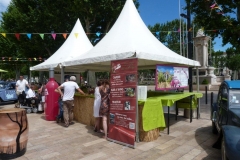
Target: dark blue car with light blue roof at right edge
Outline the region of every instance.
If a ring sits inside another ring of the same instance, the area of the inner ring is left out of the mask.
[[[211,105],[212,132],[219,133],[222,159],[240,159],[240,80],[224,81]]]

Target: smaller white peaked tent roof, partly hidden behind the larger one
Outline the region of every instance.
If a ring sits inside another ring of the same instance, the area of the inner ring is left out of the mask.
[[[92,48],[93,46],[78,19],[62,46],[46,61],[30,67],[30,70],[48,70],[49,68],[55,68],[63,61],[75,59],[77,56],[84,54]]]

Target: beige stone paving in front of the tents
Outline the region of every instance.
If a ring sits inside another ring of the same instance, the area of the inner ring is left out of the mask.
[[[216,96],[216,94],[215,94]],[[177,121],[171,115],[170,134],[167,129],[157,140],[140,142],[128,148],[101,138],[93,128],[75,123],[68,128],[54,121],[46,121],[41,114],[28,114],[29,141],[27,152],[17,160],[219,160],[220,150],[212,148],[217,135],[211,133],[210,94],[208,105],[201,99],[201,118],[183,118]],[[13,107],[13,104],[0,108]]]

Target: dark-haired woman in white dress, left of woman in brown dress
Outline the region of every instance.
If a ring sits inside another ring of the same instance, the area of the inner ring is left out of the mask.
[[[95,92],[94,92],[94,106],[93,106],[93,116],[95,117],[95,127],[94,127],[94,131],[98,132],[100,131],[99,125],[100,125],[100,117],[99,116],[99,109],[100,109],[100,105],[101,105],[101,94],[99,92],[99,87],[101,86],[101,81],[97,82],[97,87],[95,88]]]

